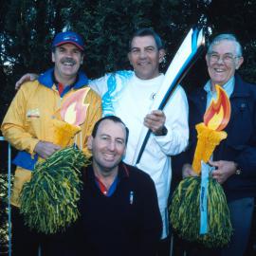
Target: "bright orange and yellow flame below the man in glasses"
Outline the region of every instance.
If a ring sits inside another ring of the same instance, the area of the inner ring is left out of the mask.
[[[222,131],[229,123],[230,102],[225,90],[216,84],[217,101],[211,101],[204,115],[204,123],[211,130]]]

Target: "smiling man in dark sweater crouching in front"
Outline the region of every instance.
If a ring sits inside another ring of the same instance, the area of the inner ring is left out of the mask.
[[[93,158],[83,172],[82,255],[156,255],[162,225],[155,184],[121,161],[127,139],[115,116],[100,119],[88,139]]]

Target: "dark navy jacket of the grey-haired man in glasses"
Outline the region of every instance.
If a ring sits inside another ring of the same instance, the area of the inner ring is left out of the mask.
[[[197,134],[195,125],[203,121],[207,93],[203,87],[188,95],[190,106],[190,143],[185,153],[173,159],[174,173],[181,173],[184,163],[192,163]],[[225,131],[228,137],[213,152],[213,160],[238,163],[240,175],[231,175],[223,184],[228,200],[256,195],[256,85],[235,75],[234,91],[230,96],[231,117]]]

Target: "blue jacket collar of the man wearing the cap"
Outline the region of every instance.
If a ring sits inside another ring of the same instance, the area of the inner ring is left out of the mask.
[[[56,82],[53,79],[54,78],[53,71],[54,71],[54,68],[48,69],[44,74],[39,76],[38,81],[41,84],[45,85],[46,87],[51,88],[54,84],[56,84]],[[83,73],[82,71],[79,71],[77,80],[75,83],[73,83],[72,88],[80,89],[87,84],[88,84],[88,79],[85,73]]]

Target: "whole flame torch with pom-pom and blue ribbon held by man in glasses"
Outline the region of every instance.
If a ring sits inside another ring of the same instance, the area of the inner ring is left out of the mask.
[[[232,233],[229,207],[221,185],[206,168],[204,175],[199,175],[202,160],[207,163],[215,147],[228,136],[223,129],[230,119],[229,98],[219,85],[215,88],[217,100],[210,102],[204,122],[195,126],[198,139],[192,169],[198,175],[188,176],[179,183],[170,207],[170,219],[177,234],[205,247],[228,245]]]

